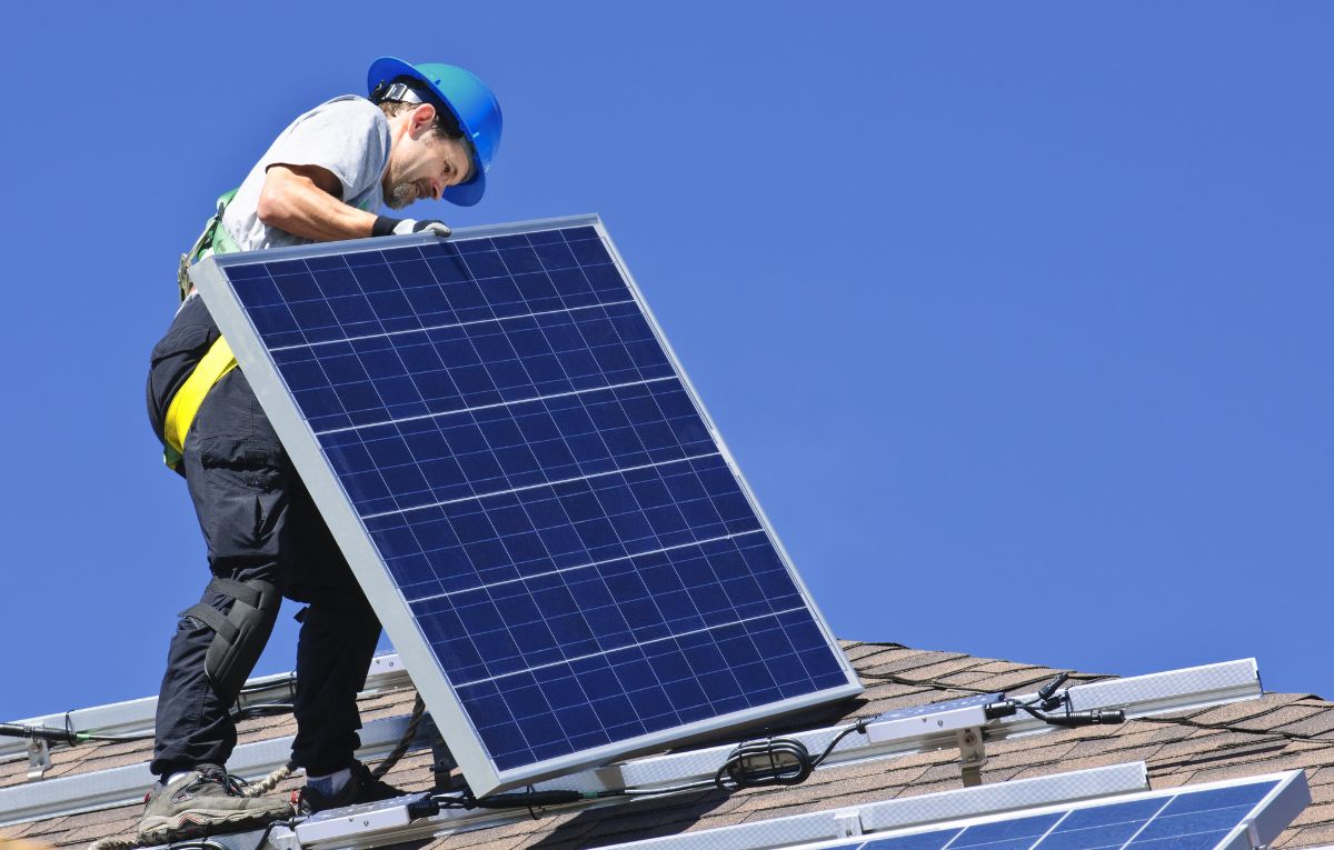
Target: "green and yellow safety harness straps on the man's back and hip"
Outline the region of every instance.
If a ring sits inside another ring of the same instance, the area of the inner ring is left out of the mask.
[[[217,212],[204,225],[204,232],[195,240],[189,253],[180,256],[180,268],[176,272],[176,284],[180,286],[180,300],[184,304],[189,297],[189,266],[209,254],[221,254],[239,250],[236,241],[227,228],[223,226],[223,213],[227,205],[236,197],[236,189],[225,192],[217,199]],[[221,336],[213,341],[204,357],[195,365],[195,369],[181,384],[180,389],[167,405],[167,416],[163,421],[163,462],[172,470],[180,466],[181,456],[185,450],[185,434],[199,413],[204,397],[213,385],[223,380],[223,376],[236,368],[236,357],[232,346]]]

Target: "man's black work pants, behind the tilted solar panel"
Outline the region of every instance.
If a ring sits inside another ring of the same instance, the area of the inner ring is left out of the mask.
[[[197,322],[203,305],[187,306],[155,350],[155,364],[171,361],[159,353],[173,348],[173,333],[176,345],[200,345],[195,329],[183,325]],[[151,405],[153,386],[151,376]],[[157,400],[159,409],[165,401]],[[185,481],[212,574],[267,581],[308,605],[296,651],[292,761],[315,775],[342,770],[360,745],[356,693],[366,683],[380,622],[240,369],[208,393],[184,449]],[[235,602],[211,589],[201,601],[224,614]],[[219,693],[204,669],[213,639],[213,630],[193,617],[183,617],[172,637],[157,698],[155,774],[224,765],[236,746],[229,709],[237,694]]]

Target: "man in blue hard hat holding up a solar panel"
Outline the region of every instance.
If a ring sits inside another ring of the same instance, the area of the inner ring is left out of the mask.
[[[420,199],[480,200],[500,141],[500,107],[454,65],[380,59],[370,100],[335,97],[297,117],[209,222],[193,257],[311,241],[430,230],[440,221],[380,216]],[[225,196],[224,196],[225,197]],[[140,838],[161,843],[267,823],[285,801],[247,798],[224,765],[236,745],[228,709],[272,632],[281,597],[297,616],[292,765],[311,811],[394,797],[354,751],[356,693],[380,624],[292,468],[203,301],[184,302],[152,353],[148,410],[167,460],[185,477],[213,578],[183,613],[157,701]]]

